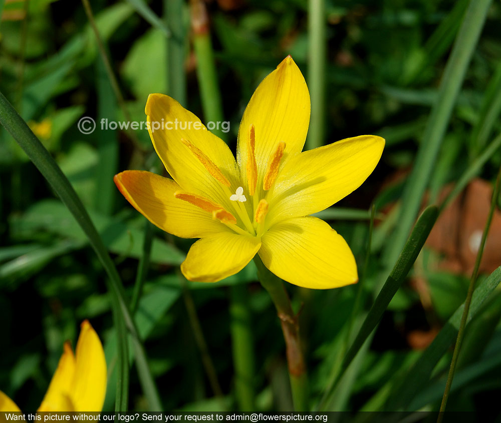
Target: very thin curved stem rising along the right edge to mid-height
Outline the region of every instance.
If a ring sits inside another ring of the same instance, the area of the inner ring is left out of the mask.
[[[454,371],[456,369],[457,357],[459,356],[459,351],[461,349],[461,343],[464,337],[464,329],[466,327],[466,320],[468,317],[468,311],[471,304],[471,298],[473,297],[473,291],[475,290],[476,278],[478,276],[478,269],[480,267],[480,261],[482,259],[483,248],[485,247],[485,241],[487,240],[487,234],[489,232],[490,223],[492,222],[492,216],[494,215],[494,209],[497,203],[497,197],[499,196],[499,188],[501,186],[501,168],[497,174],[496,184],[492,193],[492,200],[490,202],[489,214],[487,216],[487,222],[485,222],[485,227],[483,228],[482,240],[480,241],[480,247],[476,254],[475,266],[473,268],[473,273],[471,275],[470,283],[468,286],[468,293],[466,294],[466,300],[464,301],[463,313],[461,314],[461,322],[459,323],[459,329],[457,332],[456,344],[454,346],[454,352],[452,353],[452,360],[449,367],[449,374],[447,375],[447,382],[445,383],[445,390],[442,397],[442,403],[440,404],[440,412],[438,413],[437,423],[443,420],[443,411],[445,411],[445,406],[447,404],[447,399],[449,397],[450,387],[452,385],[452,379],[454,378]]]

